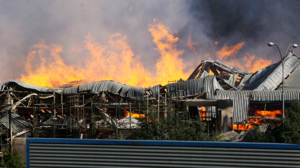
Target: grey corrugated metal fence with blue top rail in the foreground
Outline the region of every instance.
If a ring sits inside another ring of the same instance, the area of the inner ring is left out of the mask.
[[[27,167],[300,167],[300,145],[28,138]]]

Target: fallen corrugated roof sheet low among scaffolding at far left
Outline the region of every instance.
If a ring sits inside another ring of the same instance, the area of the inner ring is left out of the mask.
[[[9,114],[3,116],[0,121],[5,127],[9,128]],[[24,117],[12,113],[12,133],[16,134],[23,129],[31,128],[32,124]]]

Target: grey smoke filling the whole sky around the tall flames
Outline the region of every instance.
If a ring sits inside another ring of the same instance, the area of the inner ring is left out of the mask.
[[[274,63],[279,54],[267,42],[277,43],[282,52],[288,44],[299,43],[299,7],[299,1],[2,1],[0,82],[35,72],[30,68],[39,67],[41,60],[33,59],[31,52],[40,41],[60,46],[66,67],[84,67],[90,58],[86,37],[91,35],[95,43],[107,46],[115,33],[127,37],[126,44],[145,71],[156,73],[161,53],[148,30],[153,18],[178,37],[174,45],[182,51],[176,55],[185,67],[181,73],[188,73],[203,59],[218,59],[216,53],[224,46],[240,43],[243,46],[234,52],[234,59],[247,63],[249,58],[255,64],[262,58]],[[297,54],[298,48],[294,50]],[[26,68],[28,61],[30,68]],[[47,70],[49,64],[43,66]]]

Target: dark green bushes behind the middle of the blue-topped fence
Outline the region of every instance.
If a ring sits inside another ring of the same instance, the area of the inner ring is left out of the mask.
[[[175,116],[173,111],[168,111],[167,117],[158,117],[157,113],[151,111],[139,126],[136,133],[136,139],[139,140],[217,140],[216,136],[207,135],[200,118],[186,121]]]

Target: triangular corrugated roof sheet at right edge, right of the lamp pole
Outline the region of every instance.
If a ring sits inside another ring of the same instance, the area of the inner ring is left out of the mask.
[[[284,82],[284,89],[294,90],[300,89],[300,64],[292,71],[291,76]]]

